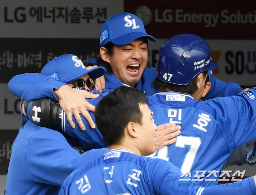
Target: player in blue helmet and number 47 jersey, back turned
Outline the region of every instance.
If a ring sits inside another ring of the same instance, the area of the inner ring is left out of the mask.
[[[202,38],[181,34],[168,39],[159,51],[153,82],[160,92],[148,103],[156,125],[169,121],[182,127],[175,144],[151,157],[172,162],[198,182],[216,183],[231,152],[256,138],[256,88],[197,101],[208,91],[208,70],[216,67]]]

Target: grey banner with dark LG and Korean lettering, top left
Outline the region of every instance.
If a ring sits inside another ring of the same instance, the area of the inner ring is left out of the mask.
[[[102,24],[120,12],[120,0],[1,0],[0,37],[99,38]]]

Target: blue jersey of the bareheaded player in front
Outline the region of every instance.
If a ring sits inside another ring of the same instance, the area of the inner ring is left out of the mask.
[[[203,188],[191,181],[179,181],[182,173],[172,163],[139,156],[129,150],[113,149],[74,171],[63,183],[59,195],[248,195],[255,194],[253,177],[241,187]],[[187,183],[182,187],[182,183]]]

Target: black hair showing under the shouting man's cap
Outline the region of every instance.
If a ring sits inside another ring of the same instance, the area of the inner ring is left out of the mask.
[[[141,37],[141,38],[138,38],[138,39],[142,39],[143,42],[147,43],[147,45],[148,45],[148,39],[146,37]],[[105,45],[103,45],[102,47],[105,47],[106,50],[107,50],[107,54],[109,56],[112,56],[113,53],[114,53],[114,46],[115,46],[114,43],[108,42]],[[106,62],[106,61],[102,60],[100,54],[98,54],[98,56],[97,56],[97,61],[99,63],[99,66],[103,66],[106,69],[107,72],[113,73],[113,70],[112,70],[111,65],[109,64],[109,62]]]

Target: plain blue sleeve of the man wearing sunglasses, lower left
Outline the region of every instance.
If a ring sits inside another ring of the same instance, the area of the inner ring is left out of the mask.
[[[95,149],[81,155],[59,132],[49,134],[47,131],[53,130],[42,130],[27,146],[27,169],[36,182],[61,186],[70,173],[108,151],[108,148]]]

